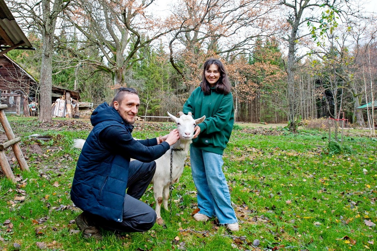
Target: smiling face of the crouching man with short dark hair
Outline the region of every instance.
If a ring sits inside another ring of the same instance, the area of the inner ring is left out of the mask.
[[[115,110],[119,112],[124,121],[130,124],[135,123],[135,115],[138,113],[139,106],[139,96],[133,93],[125,94],[120,104],[118,101],[114,101]]]

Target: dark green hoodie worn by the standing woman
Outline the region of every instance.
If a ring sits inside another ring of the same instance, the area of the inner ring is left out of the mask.
[[[183,106],[183,112],[192,112],[194,119],[205,115],[205,120],[198,124],[200,134],[193,139],[193,145],[202,150],[222,155],[229,141],[233,123],[233,96],[221,94],[212,87],[211,93],[205,94],[201,87],[196,88]]]

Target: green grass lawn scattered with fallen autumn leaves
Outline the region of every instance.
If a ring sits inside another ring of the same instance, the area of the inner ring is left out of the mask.
[[[376,250],[377,228],[364,222],[377,223],[377,141],[368,137],[344,136],[342,147],[352,152],[336,153],[327,150],[323,131],[292,134],[278,128],[271,132],[279,133],[254,135],[242,125],[224,152],[239,232],[228,236],[213,220],[193,220],[196,189],[187,160],[172,191],[172,215],[161,210],[166,226],[156,224],[145,233],[103,231],[103,240],[97,241],[84,239],[72,222],[81,211],[69,197],[80,155],[72,140],[86,137],[89,122],[57,119],[46,126],[35,118],[9,121],[22,138],[31,172],[11,162],[17,184],[0,177],[0,250]],[[173,123],[136,124],[133,135],[152,138],[172,128]],[[53,138],[36,152],[28,137],[34,133]],[[154,207],[151,187],[142,200]],[[251,246],[255,239],[261,242],[257,248]]]

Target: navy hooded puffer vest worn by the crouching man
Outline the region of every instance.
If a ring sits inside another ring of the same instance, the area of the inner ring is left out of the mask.
[[[104,151],[99,135],[103,129],[114,125],[131,134],[133,126],[124,123],[107,103],[98,106],[90,120],[94,127],[77,162],[71,199],[83,211],[122,222],[130,158]]]

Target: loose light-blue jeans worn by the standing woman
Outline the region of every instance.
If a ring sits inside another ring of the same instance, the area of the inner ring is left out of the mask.
[[[229,188],[222,172],[222,155],[191,145],[192,178],[198,190],[199,213],[216,216],[220,224],[238,222],[230,202]]]

